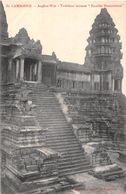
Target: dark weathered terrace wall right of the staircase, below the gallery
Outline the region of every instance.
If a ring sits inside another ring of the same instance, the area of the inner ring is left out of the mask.
[[[69,92],[64,94],[64,101],[67,104],[72,123],[74,125],[81,124],[79,130],[82,131],[82,134],[85,131],[89,139],[91,136],[97,136],[104,140],[114,141],[118,129],[123,132],[122,106],[117,94]],[[88,130],[87,127],[84,127],[86,124],[91,125]]]

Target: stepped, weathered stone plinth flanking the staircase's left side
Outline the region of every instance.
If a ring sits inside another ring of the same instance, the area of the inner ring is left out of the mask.
[[[3,86],[3,172],[8,169],[15,176],[16,171],[21,181],[58,176],[57,155],[47,157],[38,150],[46,147],[45,129],[39,125],[30,93],[29,84]]]

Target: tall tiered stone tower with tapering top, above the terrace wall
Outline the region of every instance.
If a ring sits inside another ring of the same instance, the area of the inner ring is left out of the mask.
[[[85,65],[92,71],[92,90],[121,92],[120,36],[106,8],[96,17],[87,41]]]

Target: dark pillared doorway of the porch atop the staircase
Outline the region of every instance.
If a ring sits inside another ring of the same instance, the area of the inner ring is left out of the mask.
[[[38,80],[38,60],[26,58],[24,60],[24,80],[37,81]]]

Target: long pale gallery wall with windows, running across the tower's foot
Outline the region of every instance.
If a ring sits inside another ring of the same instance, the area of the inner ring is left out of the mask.
[[[58,70],[56,72],[56,87],[61,89],[82,90],[85,92],[121,92],[122,79],[112,78],[111,71],[71,72]]]

